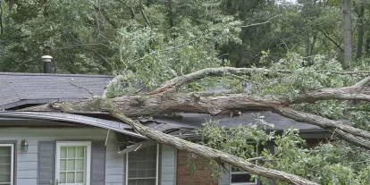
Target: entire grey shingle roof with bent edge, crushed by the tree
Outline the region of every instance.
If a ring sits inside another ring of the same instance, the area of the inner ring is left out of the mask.
[[[0,110],[20,105],[46,104],[55,101],[78,101],[93,96],[101,96],[106,85],[113,79],[114,76],[110,75],[0,72]],[[1,116],[5,116],[5,113],[0,114]],[[61,113],[13,113],[13,116],[25,116],[28,119],[32,119],[32,117],[46,120],[54,119],[59,122],[75,122],[105,128],[107,125],[104,119],[93,118],[94,116],[90,115],[80,117],[76,114]],[[302,131],[323,130],[315,125],[296,122],[269,111],[248,111],[236,116],[225,114],[217,116],[179,114],[178,116],[170,117],[157,115],[153,119],[140,121],[156,130],[170,133],[178,130],[194,130],[201,127],[202,123],[209,121],[220,122],[221,126],[230,128],[240,124],[255,123],[257,116],[264,117],[265,122],[274,125],[274,128],[266,127],[266,130],[286,130],[290,127]],[[122,124],[118,122],[114,122],[112,125],[118,125],[117,129],[119,130],[123,129],[121,128]]]

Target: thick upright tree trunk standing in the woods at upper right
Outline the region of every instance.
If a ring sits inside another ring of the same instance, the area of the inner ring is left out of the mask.
[[[352,63],[352,22],[350,3],[350,0],[343,0],[344,68],[348,68],[350,63]]]

